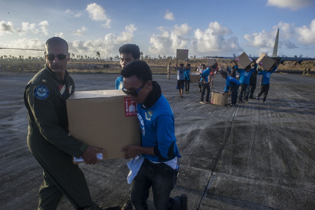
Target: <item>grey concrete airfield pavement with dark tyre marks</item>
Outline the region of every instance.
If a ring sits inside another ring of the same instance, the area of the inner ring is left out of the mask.
[[[0,208],[37,209],[42,169],[26,144],[23,91],[35,73],[0,72]],[[114,89],[117,74],[72,74],[76,91]],[[176,75],[153,75],[175,116],[180,175],[172,196],[188,209],[315,209],[315,77],[273,73],[268,104],[200,104],[197,83],[178,97]],[[259,91],[259,81],[255,94]],[[211,91],[222,92],[220,75]],[[230,102],[230,98],[228,99]],[[95,203],[128,198],[123,158],[80,164]],[[154,209],[152,193],[149,209]],[[58,209],[73,209],[65,198]]]

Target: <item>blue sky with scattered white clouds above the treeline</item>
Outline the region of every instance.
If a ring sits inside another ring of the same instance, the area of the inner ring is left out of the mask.
[[[0,0],[0,47],[44,49],[59,36],[74,55],[119,55],[126,43],[144,55],[272,54],[315,57],[315,0]],[[42,55],[4,50],[0,55]]]

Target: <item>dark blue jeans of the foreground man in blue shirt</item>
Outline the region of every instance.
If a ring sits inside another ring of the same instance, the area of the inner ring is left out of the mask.
[[[149,197],[150,187],[152,187],[153,202],[157,210],[181,209],[183,199],[169,197],[174,188],[174,178],[171,172],[145,158],[130,186],[133,209],[148,210],[146,199]]]

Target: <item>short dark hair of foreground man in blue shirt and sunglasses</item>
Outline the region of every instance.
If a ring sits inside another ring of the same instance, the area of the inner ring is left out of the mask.
[[[142,82],[152,81],[152,72],[146,61],[133,60],[128,63],[120,73],[123,77],[136,76]]]

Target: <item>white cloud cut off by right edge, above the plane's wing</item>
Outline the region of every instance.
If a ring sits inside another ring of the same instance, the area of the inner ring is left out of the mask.
[[[307,26],[297,27],[294,31],[299,35],[298,41],[302,44],[315,44],[315,19],[309,28]]]

